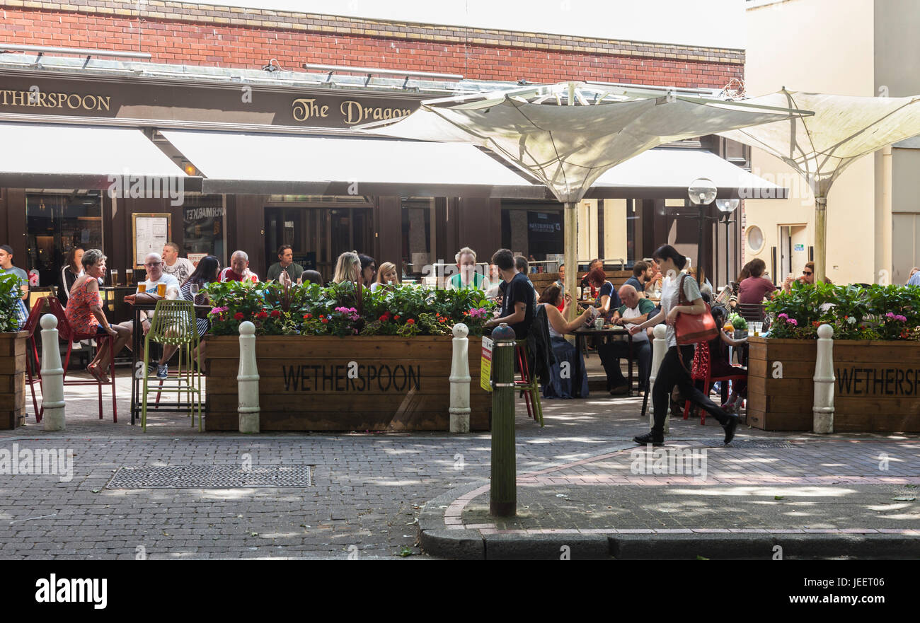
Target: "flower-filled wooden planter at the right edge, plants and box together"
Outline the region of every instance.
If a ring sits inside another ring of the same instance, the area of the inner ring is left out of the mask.
[[[750,340],[748,424],[811,430],[817,329],[834,327],[834,430],[920,431],[920,288],[795,285]]]

